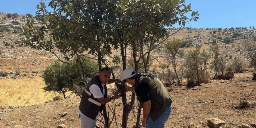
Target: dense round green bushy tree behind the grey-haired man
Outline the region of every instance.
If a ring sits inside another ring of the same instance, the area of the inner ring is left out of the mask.
[[[79,60],[68,61],[68,64],[57,61],[48,66],[42,75],[46,84],[43,89],[62,93],[64,98],[66,98],[65,93],[68,91],[81,97],[83,82],[89,81],[89,79],[87,79],[88,81],[81,79],[82,74],[90,78],[98,71],[97,64],[88,58],[82,58],[81,63],[85,72],[82,72]]]

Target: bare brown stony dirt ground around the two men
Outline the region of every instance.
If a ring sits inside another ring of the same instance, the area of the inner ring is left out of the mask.
[[[209,118],[223,120],[226,123],[222,126],[223,128],[234,128],[243,124],[255,123],[255,93],[248,99],[249,103],[252,104],[251,108],[246,110],[234,109],[234,106],[240,102],[240,98],[244,94],[250,93],[256,86],[255,81],[247,78],[250,75],[250,73],[238,73],[230,80],[211,80],[211,83],[203,84],[197,90],[174,87],[174,91],[170,91],[173,97],[173,109],[165,127],[185,128],[191,122],[194,125],[208,127],[207,119]],[[128,93],[128,101],[130,100],[129,97]],[[79,102],[80,97],[72,97],[15,109],[5,107],[0,109],[0,111],[6,111],[0,115],[0,127],[12,128],[14,125],[22,125],[33,128],[54,128],[60,124],[65,124],[70,128],[79,128],[81,123],[77,113]],[[122,122],[121,103],[121,98],[116,100],[115,103],[108,103],[110,106],[120,105],[116,106],[118,127],[121,127]],[[67,112],[67,115],[61,118],[60,114],[63,112]],[[136,115],[136,113],[134,114]],[[53,117],[56,117],[56,119],[53,119]],[[60,119],[65,119],[65,121],[56,123]],[[136,118],[133,118],[133,113],[131,113],[128,127],[132,127],[135,124],[135,120]],[[11,125],[12,121],[16,123]],[[97,124],[102,126],[100,122],[97,122]],[[114,122],[111,124],[111,127],[116,127]]]

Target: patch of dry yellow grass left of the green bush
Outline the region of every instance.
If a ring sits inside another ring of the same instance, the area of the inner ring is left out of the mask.
[[[23,106],[40,104],[52,99],[54,93],[42,90],[45,83],[42,78],[1,79],[0,106]]]

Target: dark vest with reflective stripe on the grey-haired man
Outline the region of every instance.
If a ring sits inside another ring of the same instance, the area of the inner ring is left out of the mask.
[[[99,86],[101,93],[103,94],[103,87],[99,80],[99,76],[95,76],[92,80],[87,84],[87,86],[83,90],[81,102],[79,105],[79,110],[83,115],[91,118],[93,120],[96,119],[99,112],[102,112],[106,104],[101,104],[97,98],[93,97],[93,94],[90,92],[89,87],[93,84]],[[104,98],[108,97],[106,84],[104,85],[105,95]]]

